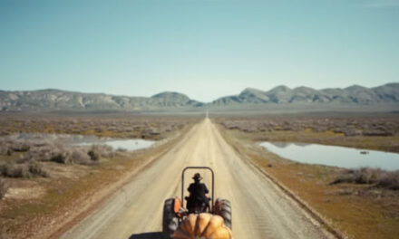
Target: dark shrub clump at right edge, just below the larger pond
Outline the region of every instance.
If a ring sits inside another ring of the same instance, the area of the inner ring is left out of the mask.
[[[349,169],[345,170],[343,174],[336,177],[336,180],[332,182],[332,184],[339,183],[372,184],[388,189],[399,190],[399,170],[386,171],[372,167]]]

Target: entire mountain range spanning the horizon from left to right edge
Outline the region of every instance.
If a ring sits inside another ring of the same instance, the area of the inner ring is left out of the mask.
[[[353,85],[345,89],[315,90],[309,87],[290,89],[277,86],[270,91],[248,88],[238,95],[225,96],[209,103],[191,100],[187,95],[165,91],[151,97],[131,97],[104,93],[82,93],[61,90],[0,91],[0,111],[56,110],[195,110],[248,106],[381,105],[399,106],[399,83],[375,88]]]

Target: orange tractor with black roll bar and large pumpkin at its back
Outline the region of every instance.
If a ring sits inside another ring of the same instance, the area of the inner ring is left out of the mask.
[[[189,169],[206,169],[212,176],[209,205],[195,204],[187,208],[189,196],[184,197],[184,175]],[[162,233],[166,239],[232,239],[231,204],[226,199],[216,199],[215,174],[210,167],[185,167],[181,173],[181,197],[165,200]],[[187,201],[186,207],[183,199]]]

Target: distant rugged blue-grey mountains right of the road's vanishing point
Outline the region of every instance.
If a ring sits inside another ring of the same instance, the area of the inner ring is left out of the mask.
[[[238,95],[212,101],[214,106],[242,104],[296,104],[296,103],[375,104],[399,103],[399,83],[389,83],[375,88],[353,85],[345,89],[315,90],[309,87],[290,89],[280,85],[270,91],[245,89]]]

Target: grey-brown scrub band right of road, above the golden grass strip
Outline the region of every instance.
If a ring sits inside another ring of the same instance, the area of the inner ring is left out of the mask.
[[[217,118],[216,121],[226,129],[238,129],[244,132],[271,131],[313,131],[334,132],[346,137],[354,136],[394,136],[399,132],[397,117],[235,117]]]

